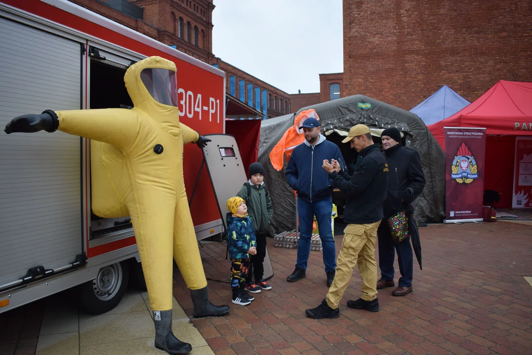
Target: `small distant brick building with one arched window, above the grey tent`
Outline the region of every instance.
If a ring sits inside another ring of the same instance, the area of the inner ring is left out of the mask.
[[[320,74],[320,92],[291,94],[293,112],[315,103],[344,97],[344,73]]]

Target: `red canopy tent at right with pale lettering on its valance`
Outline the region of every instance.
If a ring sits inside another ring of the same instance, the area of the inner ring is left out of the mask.
[[[511,207],[516,136],[532,136],[532,83],[500,80],[453,116],[427,127],[444,150],[443,127],[486,128],[484,189],[501,195],[498,207]]]

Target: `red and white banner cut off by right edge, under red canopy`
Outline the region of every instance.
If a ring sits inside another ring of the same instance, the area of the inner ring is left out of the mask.
[[[532,209],[532,137],[516,137],[513,209]]]

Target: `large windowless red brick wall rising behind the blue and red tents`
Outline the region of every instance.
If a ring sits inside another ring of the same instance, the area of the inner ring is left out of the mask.
[[[531,82],[531,19],[527,0],[343,0],[343,96],[410,110],[444,84],[473,101]]]

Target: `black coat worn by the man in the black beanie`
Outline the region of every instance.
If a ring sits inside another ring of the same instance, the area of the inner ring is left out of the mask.
[[[388,168],[388,194],[383,204],[384,219],[404,211],[425,188],[425,174],[417,151],[394,145],[384,151]]]

